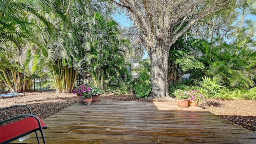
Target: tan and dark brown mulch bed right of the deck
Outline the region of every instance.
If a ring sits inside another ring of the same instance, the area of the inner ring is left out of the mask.
[[[256,100],[214,100],[199,102],[209,112],[256,132]],[[215,105],[215,106],[214,106]]]

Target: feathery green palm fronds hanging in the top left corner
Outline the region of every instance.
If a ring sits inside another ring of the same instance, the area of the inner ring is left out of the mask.
[[[65,4],[65,1],[62,1]],[[65,6],[65,5],[64,5]],[[63,5],[58,0],[1,0],[0,1],[0,44],[8,41],[22,42],[24,39],[33,38],[32,27],[35,26],[30,16],[36,16],[52,32],[53,25],[42,15],[55,12],[63,20]]]

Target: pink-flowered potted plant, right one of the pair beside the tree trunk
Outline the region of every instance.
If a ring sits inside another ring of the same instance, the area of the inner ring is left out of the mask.
[[[198,90],[188,91],[188,106],[198,106],[198,102],[202,100],[203,96]]]

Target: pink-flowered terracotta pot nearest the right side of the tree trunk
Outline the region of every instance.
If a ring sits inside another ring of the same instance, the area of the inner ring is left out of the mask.
[[[186,90],[177,89],[173,94],[178,100],[178,107],[188,108],[188,92]]]

